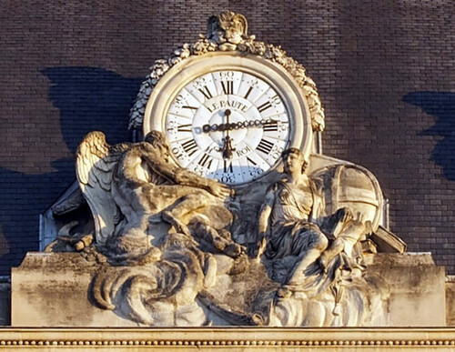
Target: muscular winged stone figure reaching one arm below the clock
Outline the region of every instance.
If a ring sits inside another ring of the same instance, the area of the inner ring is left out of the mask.
[[[223,204],[226,186],[174,166],[169,156],[159,131],[147,134],[144,142],[116,146],[109,146],[99,131],[84,138],[76,153],[76,174],[95,219],[98,245],[112,236],[145,233],[150,217],[160,215],[186,233],[182,216]]]

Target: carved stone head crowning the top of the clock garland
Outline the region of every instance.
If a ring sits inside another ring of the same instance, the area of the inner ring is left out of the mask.
[[[236,46],[248,37],[247,17],[232,11],[212,15],[207,20],[207,39],[226,49],[235,50]]]

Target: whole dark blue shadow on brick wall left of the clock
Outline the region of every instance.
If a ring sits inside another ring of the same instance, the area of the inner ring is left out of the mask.
[[[50,67],[41,73],[50,79],[49,101],[59,109],[62,136],[73,154],[89,131],[105,132],[110,144],[130,139],[128,113],[142,79],[94,67]],[[52,166],[56,172],[42,174],[0,167],[0,275],[38,249],[39,214],[76,178],[73,157],[53,160]]]

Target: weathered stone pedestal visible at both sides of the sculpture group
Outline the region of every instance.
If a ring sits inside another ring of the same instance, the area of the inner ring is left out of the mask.
[[[445,271],[430,254],[379,254],[367,262],[389,283],[385,326],[445,326]],[[90,301],[91,278],[99,269],[76,253],[28,253],[12,270],[12,326],[137,327]]]

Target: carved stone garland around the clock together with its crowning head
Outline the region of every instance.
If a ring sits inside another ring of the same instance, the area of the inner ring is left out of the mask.
[[[187,60],[190,56],[207,55],[213,52],[237,52],[242,55],[257,55],[284,67],[298,83],[308,101],[313,130],[322,132],[325,126],[324,109],[321,106],[316,84],[307,75],[305,67],[286,55],[281,46],[258,41],[255,35],[248,35],[247,32],[248,23],[244,15],[226,11],[209,17],[206,35],[199,35],[200,38],[196,42],[178,47],[167,58],[155,61],[155,64],[150,67],[150,74],[142,82],[135,104],[131,108],[129,128],[142,128],[147,100],[161,77],[172,66]]]

